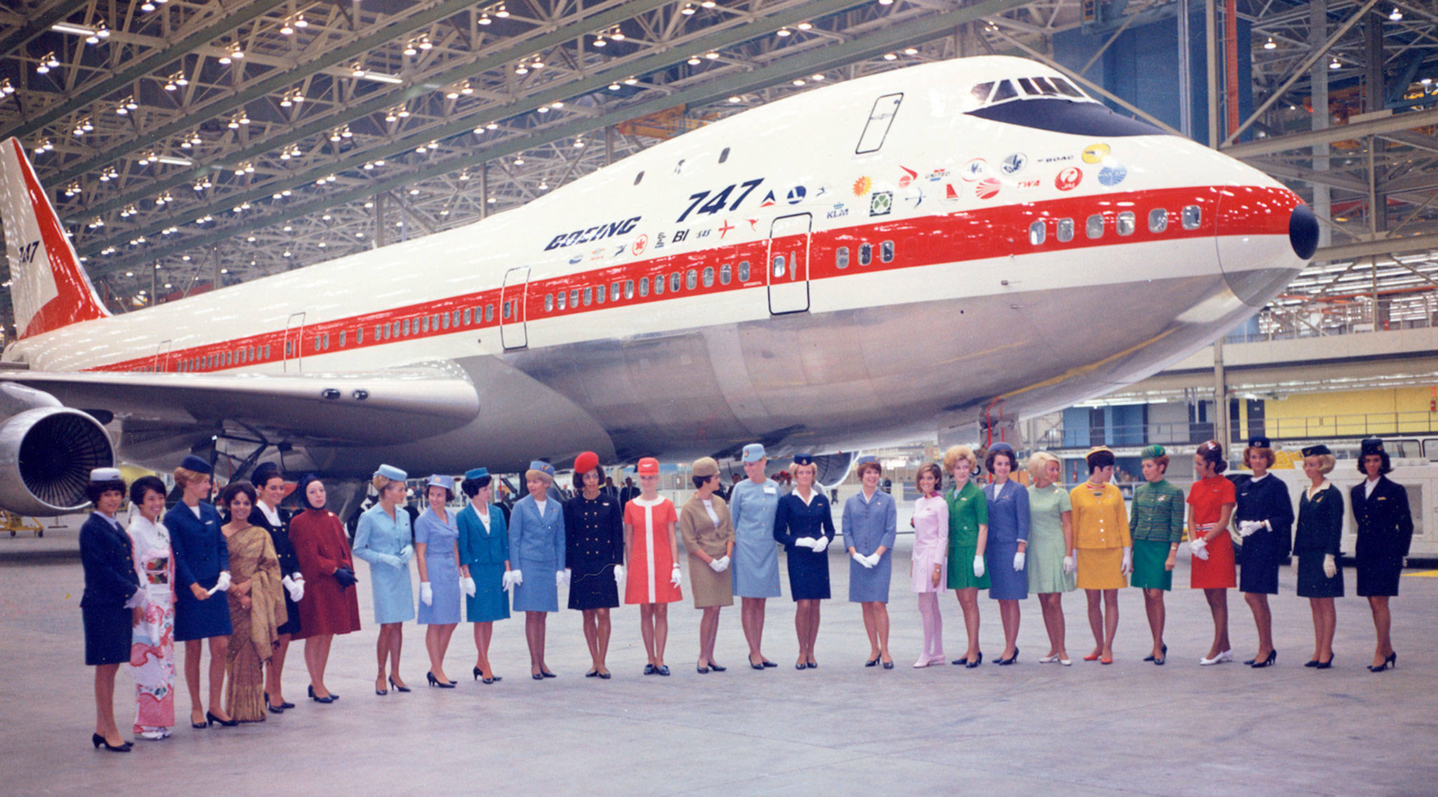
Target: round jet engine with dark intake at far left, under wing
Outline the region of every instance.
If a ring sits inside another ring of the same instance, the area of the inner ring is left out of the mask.
[[[115,447],[93,417],[68,407],[35,407],[0,424],[0,508],[23,515],[83,509],[95,468],[115,465]]]

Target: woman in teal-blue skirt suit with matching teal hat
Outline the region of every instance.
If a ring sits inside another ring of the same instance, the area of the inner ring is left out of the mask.
[[[489,640],[495,634],[495,620],[509,619],[509,594],[505,573],[509,570],[509,532],[505,514],[490,505],[492,476],[486,468],[464,472],[459,489],[469,496],[469,506],[459,511],[460,573],[469,577],[473,591],[466,590],[466,617],[475,624],[475,679],[485,683],[503,680],[489,666]]]

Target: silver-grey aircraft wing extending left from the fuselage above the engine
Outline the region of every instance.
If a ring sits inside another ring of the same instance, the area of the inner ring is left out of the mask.
[[[473,383],[450,363],[336,374],[0,371],[0,380],[127,423],[234,422],[315,442],[411,442],[479,414]]]

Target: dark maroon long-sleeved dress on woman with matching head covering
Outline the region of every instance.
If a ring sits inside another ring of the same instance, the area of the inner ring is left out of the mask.
[[[335,568],[355,567],[339,518],[325,509],[305,509],[289,522],[289,541],[305,575],[305,597],[296,604],[299,633],[293,639],[358,632],[357,590],[352,586],[342,590],[335,581]]]

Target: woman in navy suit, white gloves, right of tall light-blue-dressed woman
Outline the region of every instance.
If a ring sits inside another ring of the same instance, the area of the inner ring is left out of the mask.
[[[794,596],[794,633],[800,657],[794,669],[817,669],[814,642],[818,639],[818,607],[828,600],[828,544],[834,541],[834,518],[828,498],[814,489],[818,466],[807,453],[794,455],[794,492],[779,498],[774,512],[774,539],[784,545],[789,561],[789,594]]]

